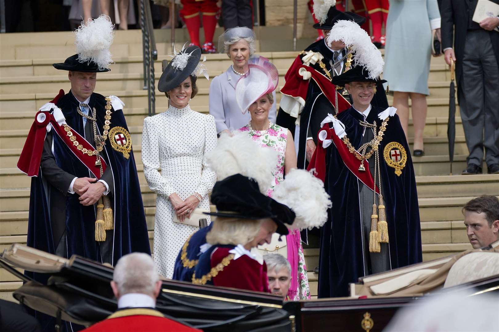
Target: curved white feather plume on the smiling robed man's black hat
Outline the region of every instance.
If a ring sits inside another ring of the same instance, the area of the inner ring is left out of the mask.
[[[328,32],[326,43],[341,40],[353,52],[355,66],[362,66],[369,72],[369,78],[377,79],[383,72],[385,62],[380,50],[371,42],[371,37],[357,23],[339,20]]]

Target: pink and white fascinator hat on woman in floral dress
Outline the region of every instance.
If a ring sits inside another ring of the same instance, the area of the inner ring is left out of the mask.
[[[267,93],[271,93],[279,82],[277,68],[262,56],[253,56],[248,61],[248,73],[236,85],[236,103],[245,114],[251,104]]]

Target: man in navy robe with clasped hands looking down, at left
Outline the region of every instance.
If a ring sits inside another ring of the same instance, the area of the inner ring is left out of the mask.
[[[123,104],[115,96],[105,98],[93,92],[97,72],[109,69],[99,69],[93,62],[80,63],[77,54],[54,67],[69,71],[71,90],[67,94],[61,90],[37,113],[17,164],[32,177],[27,245],[66,258],[76,254],[111,265],[130,252],[150,254]],[[80,115],[78,109],[88,117]],[[106,117],[108,110],[110,119]],[[91,119],[94,112],[95,128]],[[109,133],[104,132],[106,124]],[[95,166],[95,154],[84,153],[96,148],[95,134],[105,140],[100,152],[105,166],[102,175]],[[112,226],[104,230],[105,240],[98,241],[97,203],[103,195],[110,201],[112,217],[108,220]],[[25,274],[47,282],[46,274]],[[44,331],[53,331],[52,318],[39,313],[36,317]]]

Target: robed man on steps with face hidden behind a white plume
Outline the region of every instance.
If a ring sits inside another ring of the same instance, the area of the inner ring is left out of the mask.
[[[339,11],[335,1],[317,0],[313,8],[319,20],[313,26],[316,29],[328,31],[338,20],[354,21],[357,24],[363,24],[366,20],[356,13]],[[286,73],[276,123],[288,128],[293,134],[298,168],[306,168],[310,161],[317,143],[320,121],[327,113],[334,112],[335,87],[330,81],[346,70],[346,60],[345,44],[341,40],[326,42],[324,38],[301,51]],[[312,79],[299,75],[302,65],[310,67]],[[316,79],[316,76],[322,80]],[[342,92],[343,89],[339,91],[340,94]],[[348,96],[345,97],[348,99]],[[345,100],[344,105],[349,106],[349,102]],[[342,108],[342,101],[339,108]]]

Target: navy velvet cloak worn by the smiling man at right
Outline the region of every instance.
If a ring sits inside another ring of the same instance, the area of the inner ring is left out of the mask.
[[[373,107],[367,117],[369,123],[376,120],[378,132],[382,122],[378,113],[381,111],[383,109]],[[359,120],[363,120],[363,116],[350,108],[338,114],[337,118],[345,125],[351,144],[358,149],[364,130]],[[407,162],[400,176],[383,157],[383,150],[390,142],[402,144],[407,152]],[[416,180],[409,146],[397,114],[390,116],[379,145],[379,157],[391,269],[419,263],[422,261],[422,248]],[[328,221],[321,228],[319,298],[348,296],[348,284],[357,282],[366,274],[364,256],[369,255],[368,252],[364,255],[366,248],[362,245],[359,185],[362,183],[345,166],[335,145],[329,145],[324,186],[331,196],[332,208],[328,211]]]

